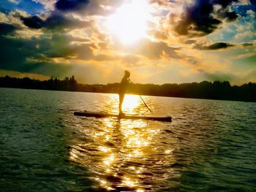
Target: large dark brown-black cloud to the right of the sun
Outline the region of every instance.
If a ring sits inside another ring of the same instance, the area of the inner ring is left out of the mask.
[[[180,35],[188,35],[190,37],[211,34],[222,23],[220,19],[233,21],[237,18],[235,12],[229,12],[227,9],[227,6],[234,1],[237,0],[197,0],[195,4],[185,9],[174,30]],[[221,5],[222,11],[214,12],[215,4]],[[214,16],[214,13],[216,16]]]

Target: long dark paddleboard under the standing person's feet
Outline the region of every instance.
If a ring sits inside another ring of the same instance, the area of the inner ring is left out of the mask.
[[[118,115],[115,113],[108,113],[108,112],[90,112],[90,111],[83,111],[83,112],[74,112],[76,116],[83,116],[83,117],[94,117],[94,118],[120,118],[120,119],[145,119],[145,120],[159,120],[159,121],[171,121],[172,118],[170,116],[142,116],[142,115]]]

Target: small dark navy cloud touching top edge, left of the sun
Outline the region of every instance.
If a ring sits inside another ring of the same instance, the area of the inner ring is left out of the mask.
[[[78,11],[84,9],[89,4],[89,0],[59,0],[55,7],[64,12]]]

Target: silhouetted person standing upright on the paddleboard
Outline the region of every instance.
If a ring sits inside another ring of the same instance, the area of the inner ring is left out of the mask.
[[[124,71],[124,77],[121,79],[121,82],[120,82],[120,85],[119,85],[119,115],[124,115],[124,112],[121,110],[121,107],[122,107],[122,104],[123,104],[123,101],[124,101],[124,94],[125,92],[127,91],[127,87],[129,85],[129,76],[130,76],[130,73],[125,70]]]

